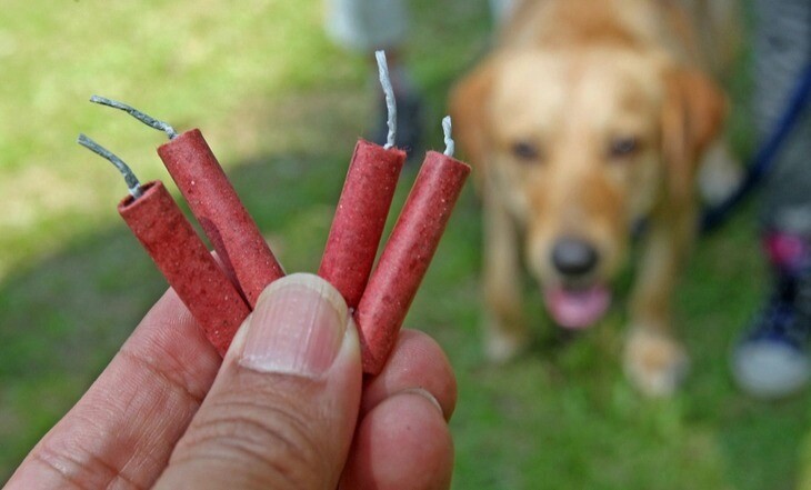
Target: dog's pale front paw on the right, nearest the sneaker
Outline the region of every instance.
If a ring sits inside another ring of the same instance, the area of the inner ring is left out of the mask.
[[[688,371],[688,356],[679,342],[643,329],[631,330],[624,358],[625,374],[649,397],[673,394]]]

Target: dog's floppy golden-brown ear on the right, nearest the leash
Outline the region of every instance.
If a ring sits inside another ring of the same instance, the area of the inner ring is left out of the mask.
[[[694,69],[665,74],[662,150],[673,197],[692,194],[695,170],[707,147],[718,138],[727,116],[721,89]]]

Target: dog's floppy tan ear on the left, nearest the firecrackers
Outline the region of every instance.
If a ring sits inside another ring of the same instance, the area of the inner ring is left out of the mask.
[[[495,61],[489,59],[460,80],[450,96],[454,138],[468,160],[480,169],[487,161],[490,146],[488,101],[494,77]]]

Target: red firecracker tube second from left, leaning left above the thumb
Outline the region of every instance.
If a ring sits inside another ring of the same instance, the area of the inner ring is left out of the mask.
[[[284,276],[253,219],[237,196],[199,129],[158,148],[180,192],[236,279],[248,303],[256,306],[266,286]]]

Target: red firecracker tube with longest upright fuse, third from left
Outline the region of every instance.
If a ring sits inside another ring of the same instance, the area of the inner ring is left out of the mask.
[[[374,264],[406,152],[359,140],[318,274],[357,308]]]

